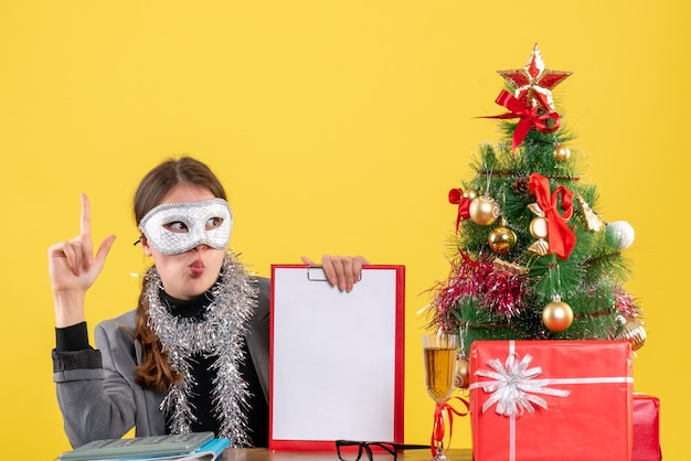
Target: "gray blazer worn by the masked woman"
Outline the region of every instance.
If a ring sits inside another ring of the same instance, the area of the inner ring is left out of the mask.
[[[269,280],[257,278],[258,305],[249,320],[247,346],[264,397],[269,389]],[[160,410],[163,394],[135,383],[141,344],[135,340],[136,311],[99,323],[97,350],[53,351],[53,380],[65,433],[73,447],[123,437],[136,427],[138,437],[166,433]]]

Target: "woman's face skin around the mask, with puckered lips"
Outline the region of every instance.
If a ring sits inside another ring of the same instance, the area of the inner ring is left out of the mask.
[[[162,203],[191,203],[214,199],[206,187],[190,183],[179,183],[163,197]],[[161,276],[166,292],[177,299],[192,299],[202,294],[219,279],[224,249],[199,245],[179,255],[168,256],[142,238],[141,246]]]

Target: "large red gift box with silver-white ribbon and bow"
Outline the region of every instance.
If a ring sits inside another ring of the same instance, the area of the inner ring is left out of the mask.
[[[475,461],[629,461],[631,347],[625,341],[476,341]]]

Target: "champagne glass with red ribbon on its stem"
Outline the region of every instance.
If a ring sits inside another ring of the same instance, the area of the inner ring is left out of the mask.
[[[423,335],[423,347],[425,352],[425,385],[427,394],[437,405],[433,429],[433,440],[436,443],[433,450],[435,452],[433,461],[448,460],[444,454],[444,420],[439,419],[444,418],[444,404],[454,394],[458,336],[456,334],[425,334]]]

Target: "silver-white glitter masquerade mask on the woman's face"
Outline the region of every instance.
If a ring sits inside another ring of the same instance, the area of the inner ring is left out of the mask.
[[[232,227],[233,212],[223,199],[162,203],[139,222],[139,228],[151,246],[168,256],[189,251],[199,245],[225,249]]]

